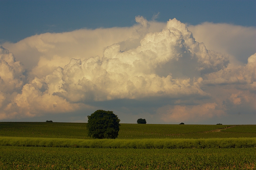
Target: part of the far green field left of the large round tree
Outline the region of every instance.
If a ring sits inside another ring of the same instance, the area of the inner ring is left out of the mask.
[[[90,139],[86,123],[0,122],[0,136]]]

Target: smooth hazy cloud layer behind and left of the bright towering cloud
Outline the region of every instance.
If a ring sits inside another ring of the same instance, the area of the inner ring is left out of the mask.
[[[45,33],[27,37],[18,43],[3,43],[33,74],[41,77],[51,73],[58,66],[64,67],[71,58],[102,56],[103,51],[114,43],[121,44],[121,50],[136,48],[146,33],[161,31],[163,23],[148,22],[136,17],[133,27],[79,29],[63,33]]]

